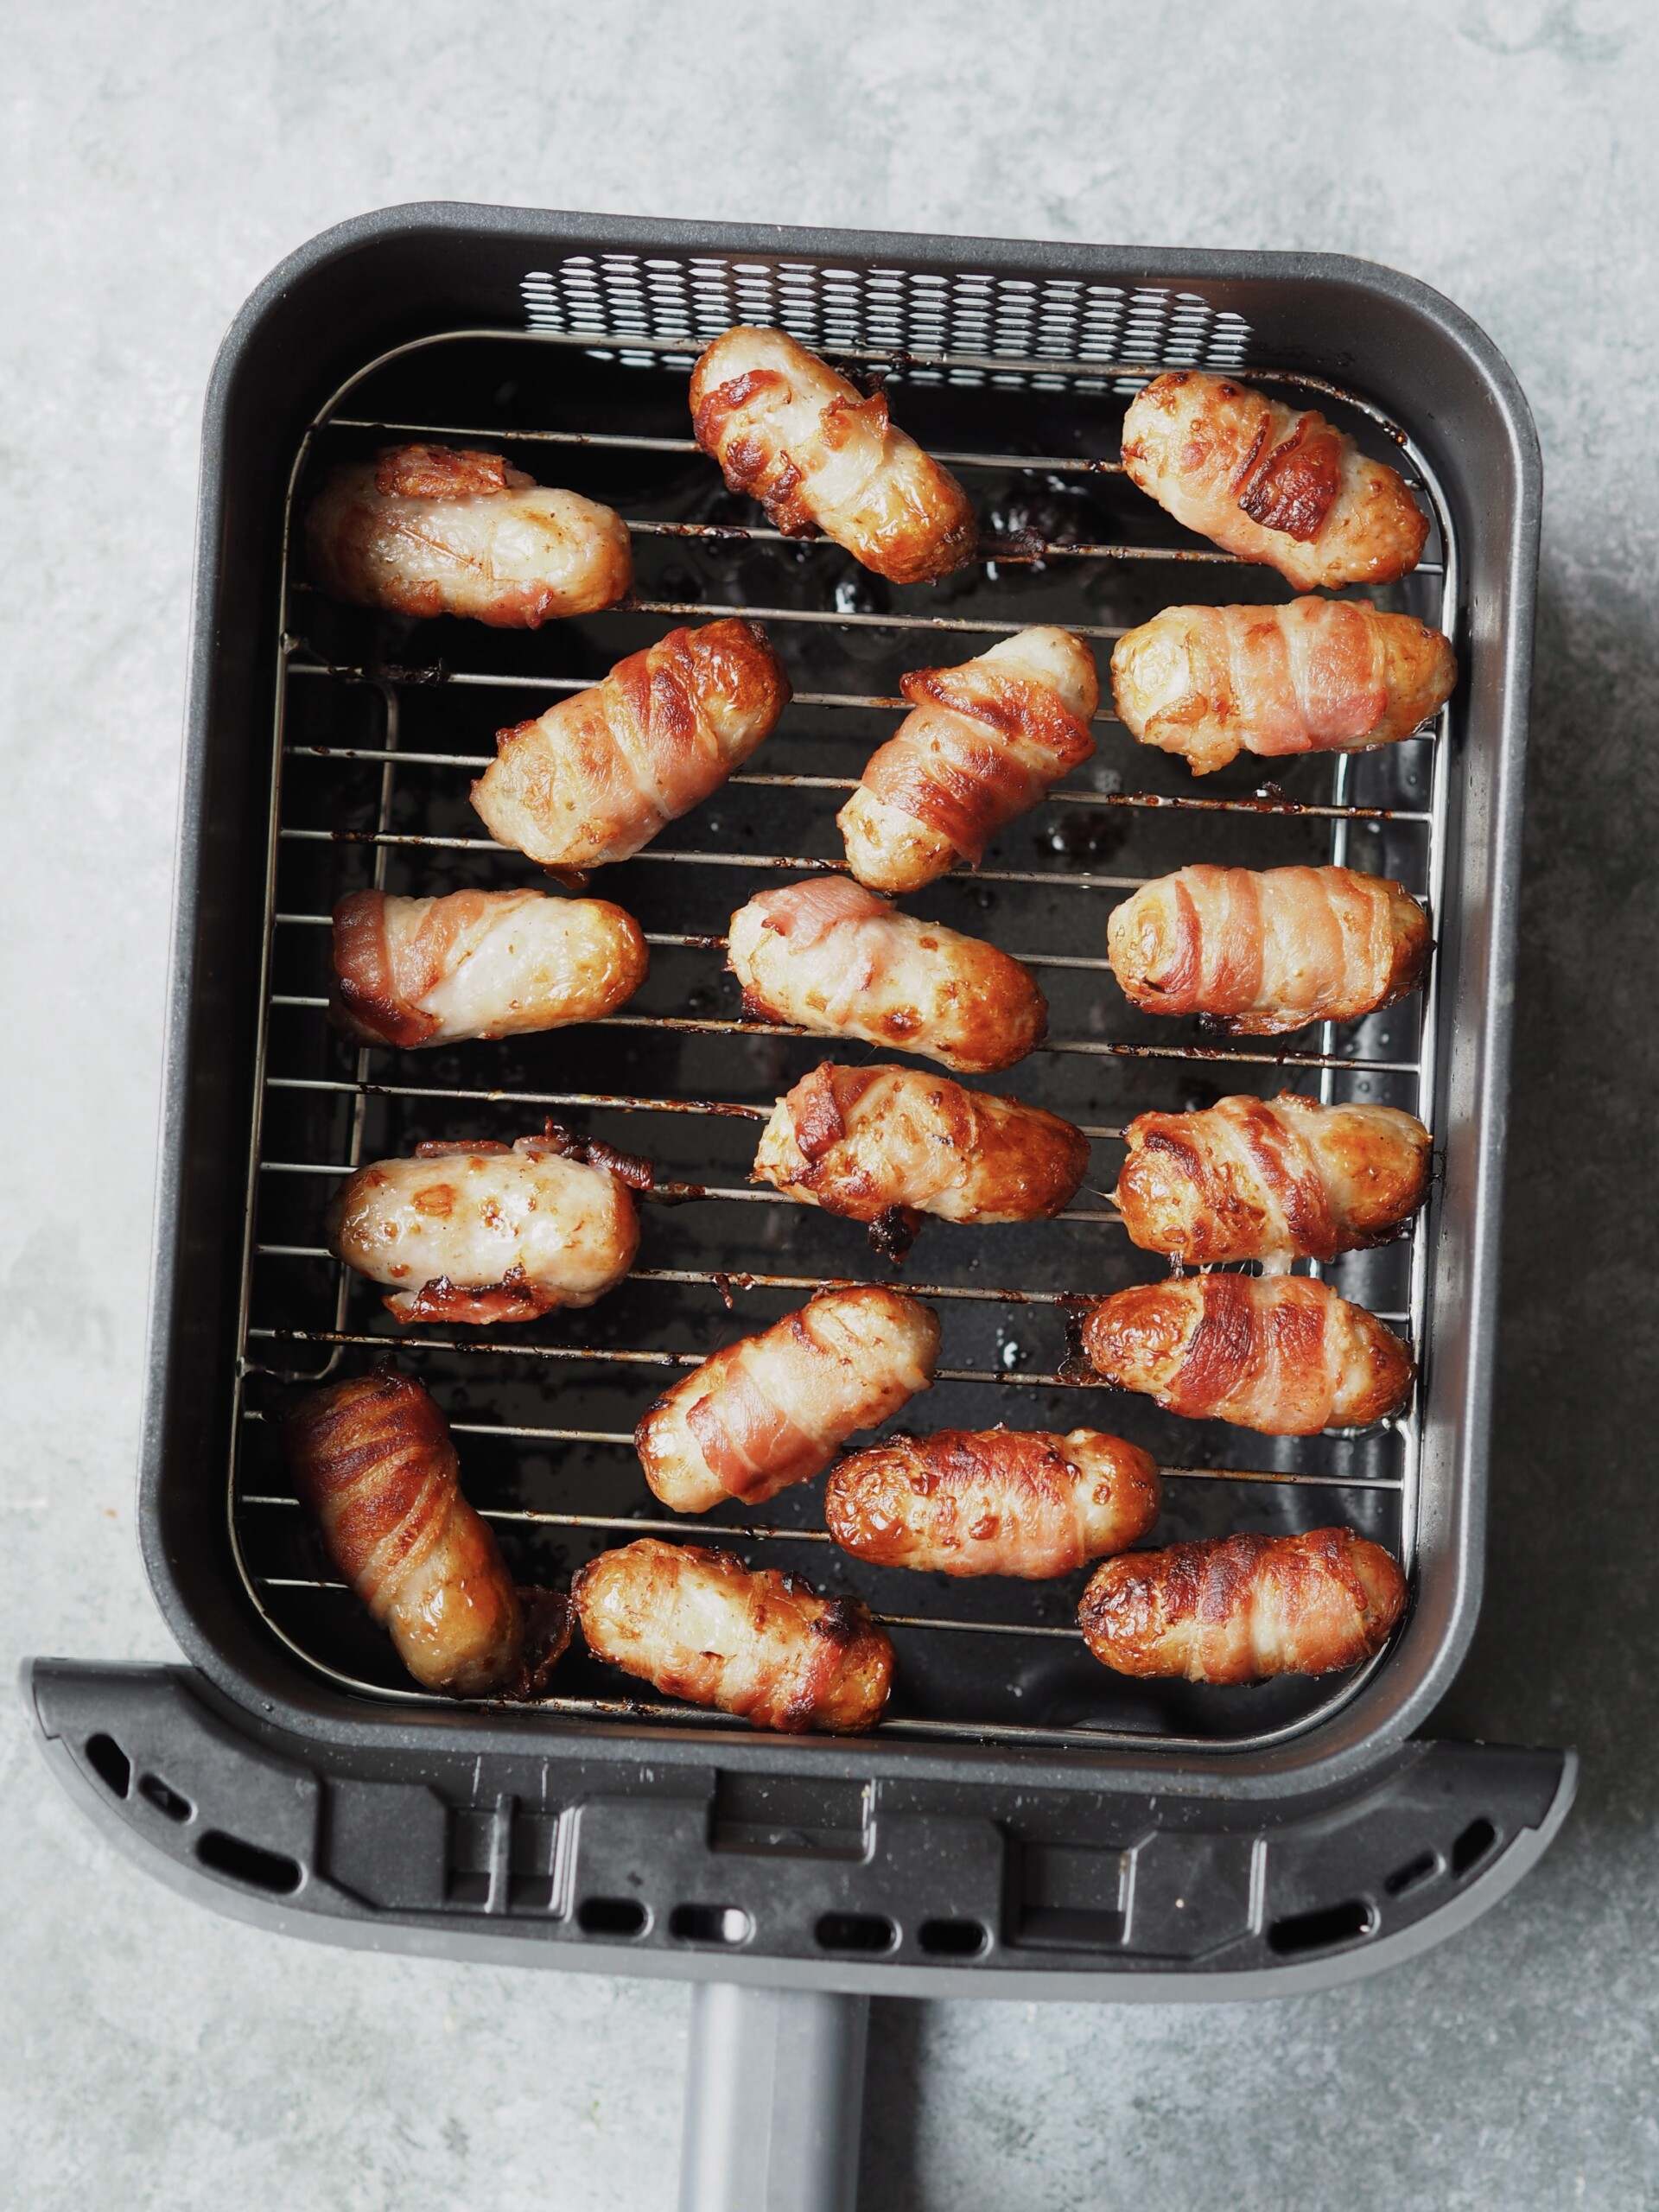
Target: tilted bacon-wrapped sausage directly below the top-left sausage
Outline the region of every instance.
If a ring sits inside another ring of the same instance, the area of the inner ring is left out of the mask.
[[[473,805],[502,845],[582,876],[719,790],[787,703],[759,622],[670,630],[593,690],[500,730]]]

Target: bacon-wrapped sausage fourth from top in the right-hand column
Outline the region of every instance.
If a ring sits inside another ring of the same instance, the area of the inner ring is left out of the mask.
[[[1429,1183],[1429,1130],[1396,1106],[1230,1097],[1124,1130],[1117,1208],[1130,1241],[1194,1267],[1336,1259],[1385,1243]]]

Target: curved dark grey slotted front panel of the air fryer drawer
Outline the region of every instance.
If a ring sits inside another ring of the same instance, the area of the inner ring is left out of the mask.
[[[931,1798],[911,1783],[889,1805],[878,1785],[858,1794],[863,1829],[768,1836],[721,1816],[732,1776],[712,1765],[641,1763],[619,1790],[615,1763],[546,1736],[465,1756],[334,1745],[263,1725],[190,1668],[31,1659],[22,1694],[104,1834],[237,1918],[796,1991],[1323,1989],[1495,1905],[1577,1781],[1573,1752],[1405,1743],[1356,1783],[1287,1798],[1144,1796],[1102,1776],[1053,1794],[938,1783]],[[783,1756],[812,1781],[812,1745]],[[726,2017],[730,2000],[708,2002],[710,2024]],[[703,2095],[723,2079],[710,2051]]]

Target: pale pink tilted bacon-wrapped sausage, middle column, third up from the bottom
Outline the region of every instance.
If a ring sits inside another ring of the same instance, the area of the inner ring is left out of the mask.
[[[880,1283],[825,1290],[675,1383],[635,1429],[646,1482],[675,1513],[761,1504],[821,1473],[933,1380],[938,1314]]]

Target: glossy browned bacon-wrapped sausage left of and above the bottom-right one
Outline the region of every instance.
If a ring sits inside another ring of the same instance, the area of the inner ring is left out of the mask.
[[[843,1551],[936,1575],[1071,1575],[1157,1513],[1157,1460],[1099,1429],[898,1436],[854,1451],[823,1493]]]

